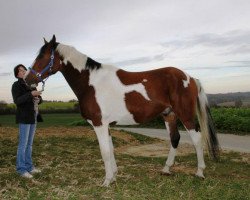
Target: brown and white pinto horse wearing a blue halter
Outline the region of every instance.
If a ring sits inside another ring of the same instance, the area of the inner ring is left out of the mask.
[[[44,39],[44,45],[25,75],[25,82],[27,85],[44,84],[58,71],[75,93],[82,117],[96,133],[105,166],[102,186],[116,181],[118,171],[109,133],[109,126],[114,123],[133,125],[163,117],[171,141],[163,174],[171,174],[174,164],[180,140],[177,120],[182,122],[194,144],[198,160],[196,176],[204,178],[204,144],[209,155],[218,159],[219,142],[204,89],[198,79],[180,69],[165,67],[128,72],[99,63],[72,46],[58,43],[53,35],[49,42]]]

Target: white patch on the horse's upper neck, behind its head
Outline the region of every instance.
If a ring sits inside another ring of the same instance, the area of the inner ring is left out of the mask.
[[[80,73],[85,69],[85,65],[87,62],[87,56],[79,51],[77,51],[74,47],[59,44],[56,48],[58,53],[64,58],[63,63],[67,65],[69,61],[75,69],[77,69]]]

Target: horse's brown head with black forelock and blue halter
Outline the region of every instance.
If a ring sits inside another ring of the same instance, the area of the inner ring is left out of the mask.
[[[50,42],[44,39],[44,45],[25,76],[28,85],[37,85],[39,82],[44,83],[46,78],[61,69],[62,62],[60,62],[59,54],[56,51],[58,44],[55,35],[53,35]]]

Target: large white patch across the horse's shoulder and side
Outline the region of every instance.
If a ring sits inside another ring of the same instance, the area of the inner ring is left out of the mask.
[[[102,122],[116,121],[121,125],[136,124],[133,115],[126,107],[125,94],[136,91],[145,99],[149,101],[150,99],[142,83],[122,84],[116,74],[117,70],[114,66],[103,65],[101,69],[90,73],[89,84],[95,89],[96,101],[102,113]]]

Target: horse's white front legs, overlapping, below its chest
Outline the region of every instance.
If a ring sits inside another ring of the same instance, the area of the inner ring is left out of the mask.
[[[94,126],[95,133],[99,142],[102,159],[105,166],[105,181],[102,186],[109,186],[110,183],[116,180],[117,167],[114,160],[113,148],[110,146],[108,124],[102,126]],[[114,166],[115,165],[115,166]]]

